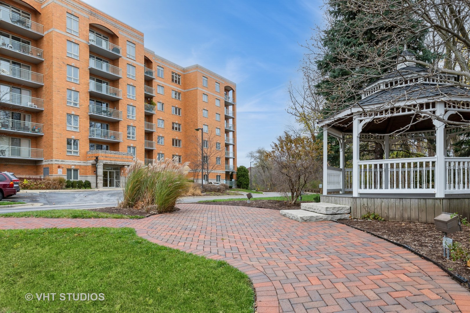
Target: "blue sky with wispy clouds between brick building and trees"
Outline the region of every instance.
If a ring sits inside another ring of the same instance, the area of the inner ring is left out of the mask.
[[[142,31],[145,46],[181,66],[200,64],[237,85],[237,165],[294,123],[287,85],[322,22],[321,0],[85,0]]]

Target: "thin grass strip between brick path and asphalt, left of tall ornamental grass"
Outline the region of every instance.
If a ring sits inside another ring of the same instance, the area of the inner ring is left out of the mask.
[[[0,217],[48,217],[48,218],[71,218],[71,219],[141,219],[141,215],[124,215],[114,213],[95,212],[90,210],[44,210],[26,211],[18,213],[4,213]]]

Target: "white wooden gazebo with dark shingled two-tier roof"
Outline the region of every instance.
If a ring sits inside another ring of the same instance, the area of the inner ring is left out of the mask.
[[[459,79],[402,62],[364,88],[356,105],[322,121],[321,201],[351,205],[353,217],[366,211],[399,221],[432,222],[441,212],[468,217],[470,157],[447,155],[449,139],[470,131],[446,123],[470,120],[470,92],[452,84]],[[328,164],[329,136],[339,141],[339,168]],[[434,155],[390,159],[390,145],[413,138],[433,138]],[[352,168],[345,168],[345,144],[351,141]],[[384,159],[361,160],[360,141],[379,142]]]

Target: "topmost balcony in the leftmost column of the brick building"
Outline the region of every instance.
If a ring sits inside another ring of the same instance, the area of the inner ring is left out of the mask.
[[[15,15],[6,9],[0,9],[0,28],[35,40],[44,37],[41,24]]]

